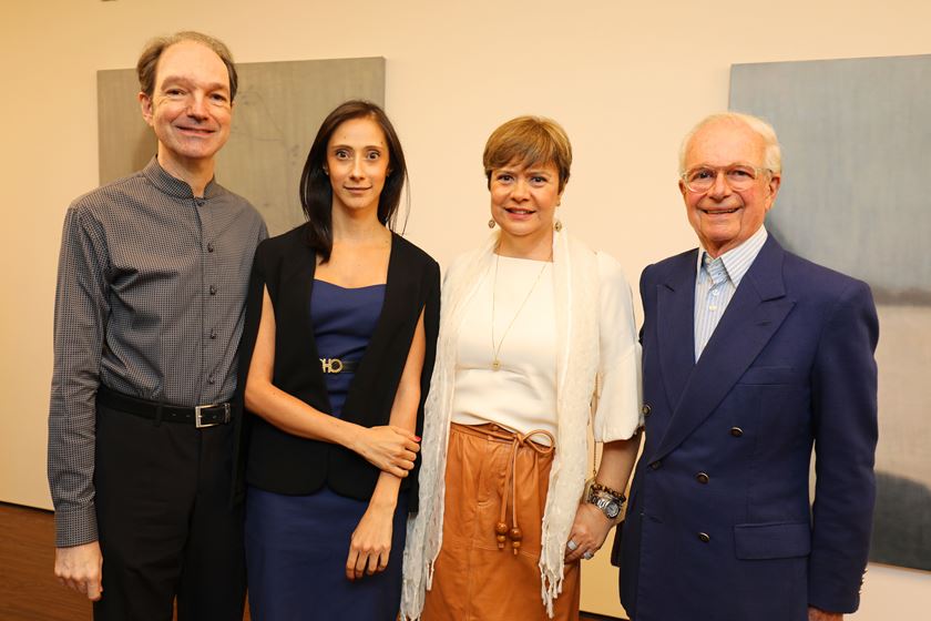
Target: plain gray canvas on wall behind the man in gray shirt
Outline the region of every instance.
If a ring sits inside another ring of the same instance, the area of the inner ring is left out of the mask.
[[[239,92],[217,181],[248,198],[274,235],[304,222],[298,181],[324,118],[348,99],[385,104],[385,59],[237,64]],[[143,167],[155,153],[132,69],[98,72],[100,182]]]

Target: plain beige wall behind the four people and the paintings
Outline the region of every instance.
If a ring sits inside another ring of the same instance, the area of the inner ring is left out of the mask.
[[[488,133],[519,113],[557,119],[575,147],[562,218],[635,282],[646,263],[693,245],[675,153],[694,121],[726,106],[732,63],[929,53],[929,23],[924,0],[3,0],[0,500],[50,506],[62,216],[96,184],[94,72],[132,67],[147,37],[200,29],[250,62],[386,57],[387,106],[411,169],[408,236],[443,263],[487,232]],[[586,598],[613,600],[613,578],[600,578]],[[923,614],[929,600],[928,574],[874,567],[856,618]]]

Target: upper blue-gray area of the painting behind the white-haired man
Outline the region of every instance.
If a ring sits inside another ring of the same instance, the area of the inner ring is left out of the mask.
[[[784,149],[769,225],[794,252],[868,281],[883,302],[931,303],[931,55],[737,64],[730,109]]]

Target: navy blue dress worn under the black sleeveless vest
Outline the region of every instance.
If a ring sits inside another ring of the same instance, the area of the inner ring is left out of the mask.
[[[359,360],[385,301],[385,285],[344,288],[314,281],[310,320],[321,358]],[[332,416],[341,416],[354,374],[326,374]],[[405,495],[402,495],[405,496]],[[407,500],[398,499],[388,569],[350,581],[346,559],[367,501],[329,488],[285,496],[248,488],[246,564],[254,621],[395,621],[401,599]]]

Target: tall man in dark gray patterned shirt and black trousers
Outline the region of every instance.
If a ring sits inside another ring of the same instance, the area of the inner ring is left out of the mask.
[[[242,620],[231,506],[237,347],[258,213],[214,181],[236,69],[197,32],[137,65],[157,154],[74,201],[54,319],[55,576],[95,619]]]

